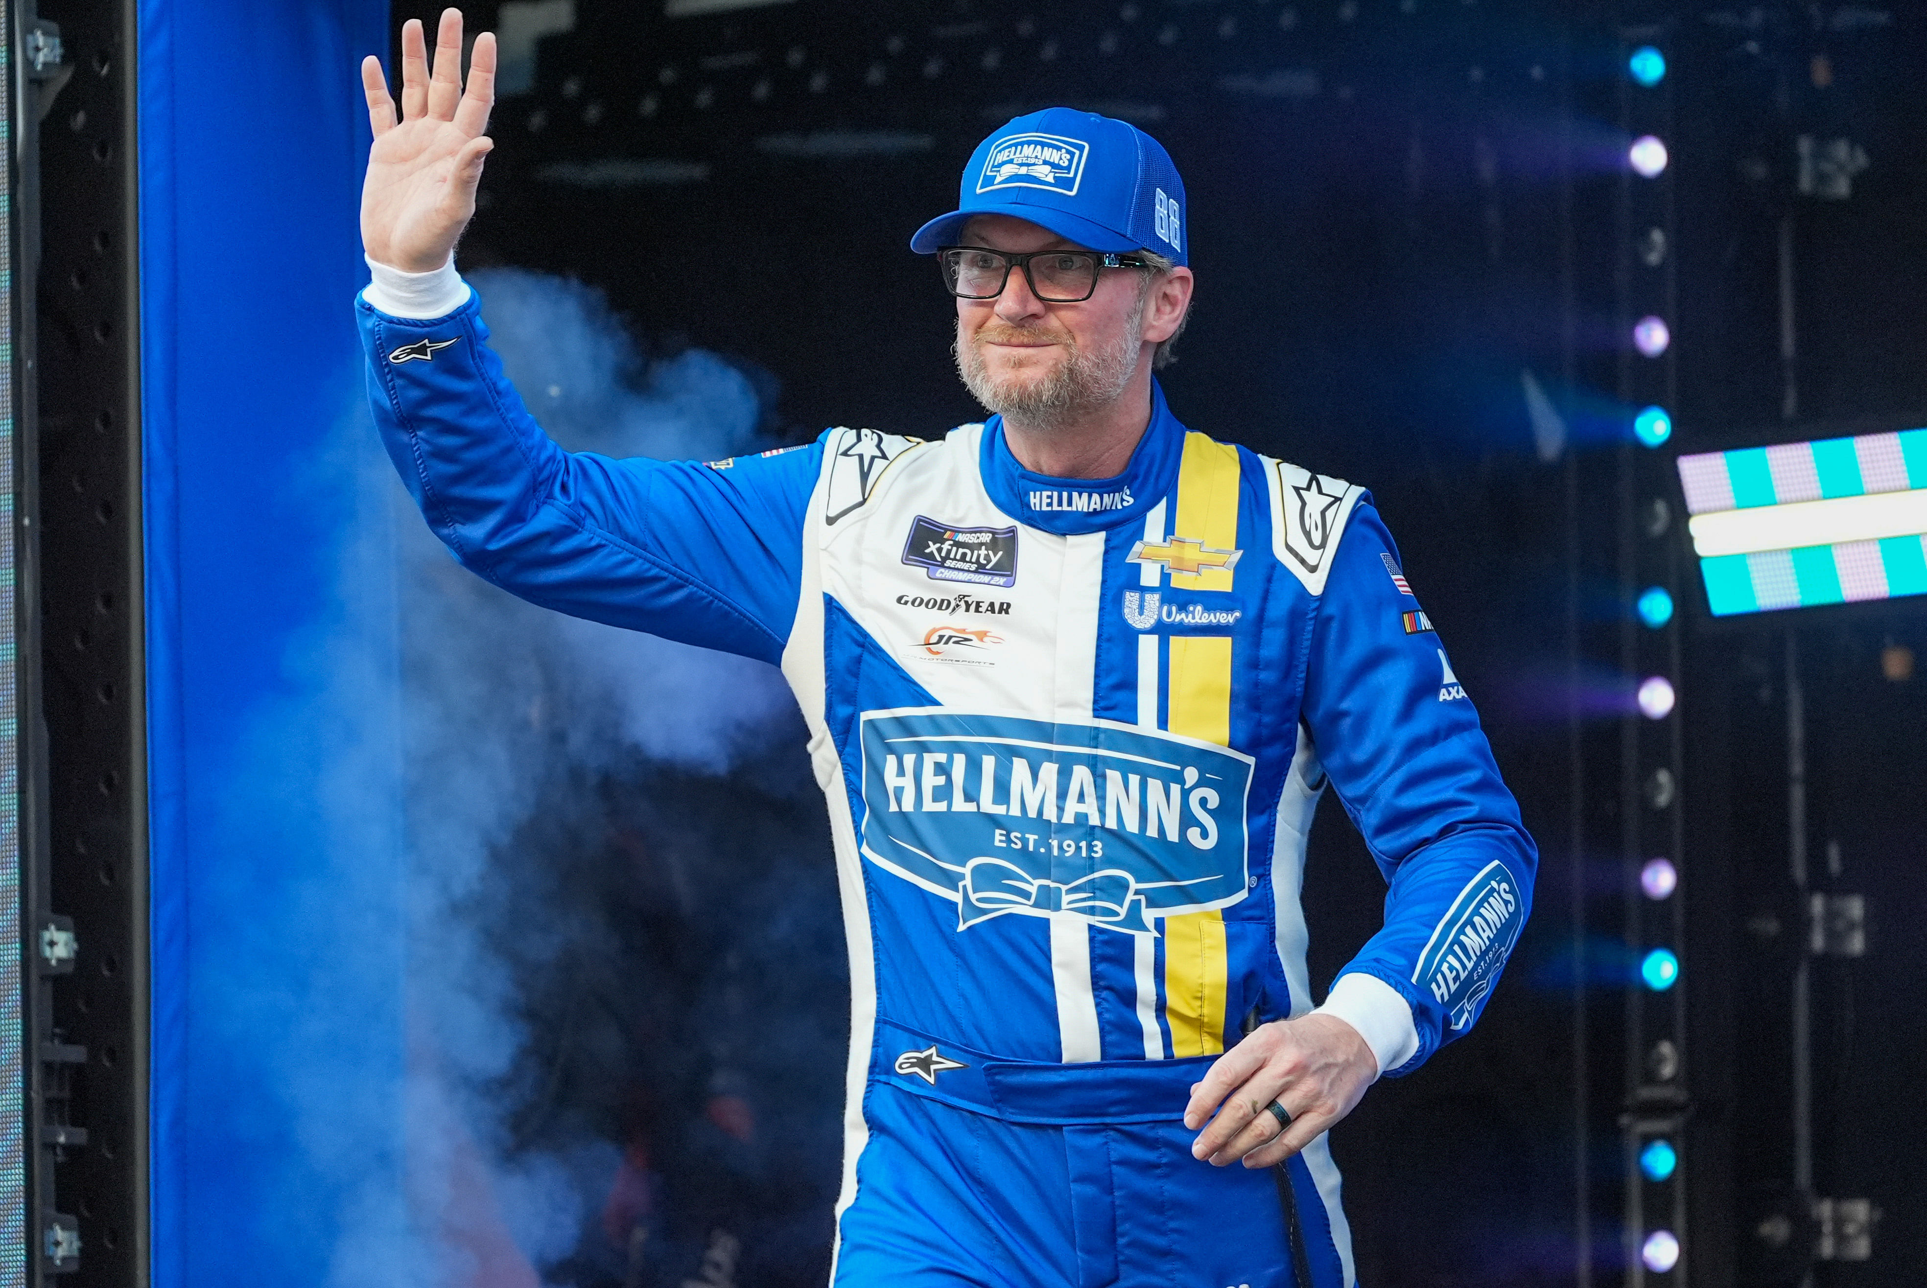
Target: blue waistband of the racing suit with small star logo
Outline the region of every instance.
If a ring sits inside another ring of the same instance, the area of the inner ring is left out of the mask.
[[[1006,1122],[1181,1122],[1191,1084],[1216,1059],[1199,1055],[1081,1065],[1006,1061],[879,1017],[871,1038],[869,1080]]]

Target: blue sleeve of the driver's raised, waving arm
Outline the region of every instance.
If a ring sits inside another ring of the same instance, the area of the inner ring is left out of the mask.
[[[780,660],[821,443],[717,466],[565,452],[488,347],[478,296],[430,322],[356,314],[382,441],[464,568],[580,618]]]

